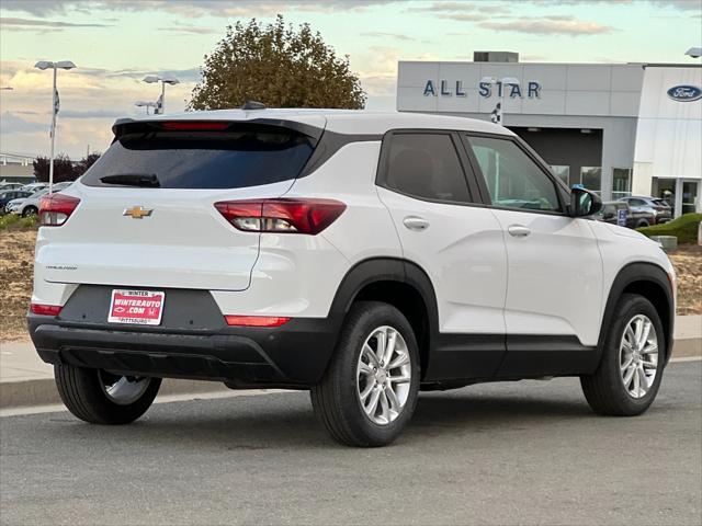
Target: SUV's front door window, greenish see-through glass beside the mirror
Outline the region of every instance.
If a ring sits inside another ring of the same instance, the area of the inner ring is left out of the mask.
[[[492,204],[529,210],[559,210],[554,182],[514,142],[468,137]]]

